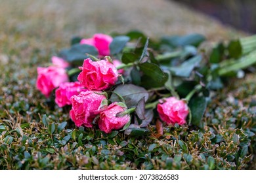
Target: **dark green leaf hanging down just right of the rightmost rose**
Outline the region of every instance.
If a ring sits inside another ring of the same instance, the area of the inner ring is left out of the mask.
[[[202,117],[206,109],[206,99],[205,97],[193,97],[188,106],[190,107],[192,113],[192,125],[196,125],[200,128],[203,128]]]

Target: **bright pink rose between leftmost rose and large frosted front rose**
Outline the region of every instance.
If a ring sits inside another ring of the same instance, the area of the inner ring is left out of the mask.
[[[73,95],[78,95],[82,91],[85,92],[87,89],[85,89],[80,82],[64,82],[60,84],[60,87],[55,91],[55,102],[58,107],[71,105],[70,98]]]

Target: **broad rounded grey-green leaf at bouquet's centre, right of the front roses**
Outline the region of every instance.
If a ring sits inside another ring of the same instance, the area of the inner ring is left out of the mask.
[[[123,97],[128,108],[135,107],[143,97],[145,97],[145,101],[147,101],[149,96],[148,92],[144,88],[133,84],[117,86],[110,97],[110,101],[112,103],[120,101],[119,97],[115,93]]]

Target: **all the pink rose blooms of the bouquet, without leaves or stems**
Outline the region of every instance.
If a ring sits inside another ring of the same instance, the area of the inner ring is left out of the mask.
[[[95,46],[98,50],[98,57],[110,55],[110,43],[112,37],[103,34],[95,34],[91,39],[82,39],[80,44]],[[99,129],[110,133],[114,129],[121,129],[131,120],[131,114],[117,115],[125,112],[125,103],[114,102],[108,105],[108,99],[104,90],[108,90],[117,82],[117,78],[125,72],[117,70],[121,61],[101,59],[92,61],[87,58],[83,66],[79,67],[81,73],[77,82],[69,82],[66,68],[69,63],[62,58],[53,56],[53,65],[50,67],[37,67],[37,89],[46,97],[55,90],[55,102],[58,107],[72,105],[70,118],[77,127],[93,127],[97,124]],[[188,115],[188,106],[185,101],[169,97],[160,99],[157,111],[162,122],[167,125],[185,124]]]

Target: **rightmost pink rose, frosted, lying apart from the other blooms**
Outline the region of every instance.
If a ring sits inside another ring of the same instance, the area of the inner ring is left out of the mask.
[[[170,124],[185,124],[186,116],[188,116],[188,105],[182,100],[178,100],[175,97],[169,97],[167,99],[160,99],[158,104],[158,113],[161,120]]]

